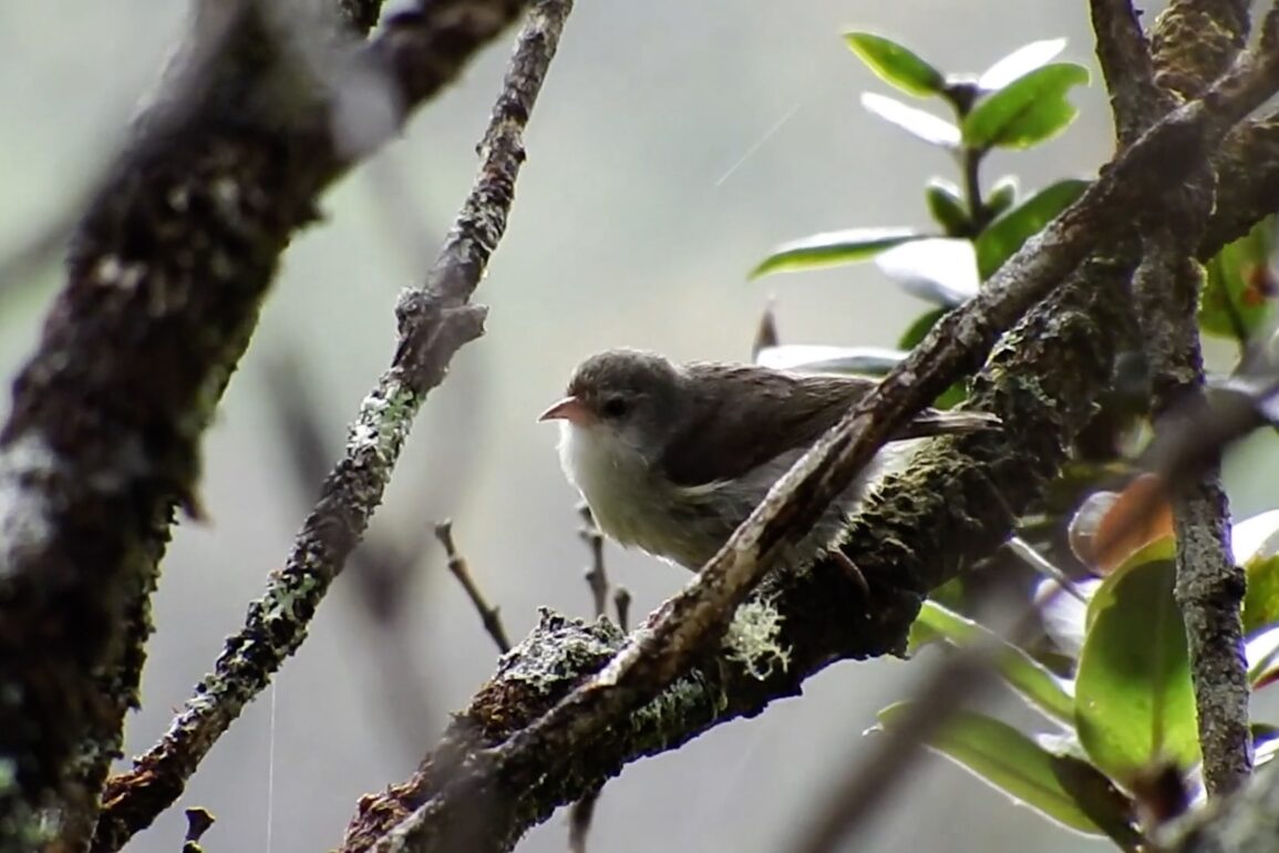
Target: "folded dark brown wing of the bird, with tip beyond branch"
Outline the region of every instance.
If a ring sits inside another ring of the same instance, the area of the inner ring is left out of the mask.
[[[694,362],[684,370],[698,399],[659,460],[680,486],[737,478],[788,450],[807,449],[875,386],[751,364]],[[926,409],[895,437],[989,430],[998,422],[978,412]]]

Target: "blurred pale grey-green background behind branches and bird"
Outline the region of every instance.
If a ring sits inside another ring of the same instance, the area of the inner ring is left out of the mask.
[[[954,175],[936,150],[858,106],[859,92],[886,87],[844,46],[844,29],[883,32],[949,72],[980,72],[1028,41],[1065,36],[1063,59],[1095,69],[1086,12],[1026,0],[578,3],[533,113],[509,231],[478,293],[491,307],[487,335],[431,394],[373,522],[375,542],[414,554],[396,602],[400,629],[393,636],[370,616],[350,575],[335,584],[301,653],[179,803],[220,818],[205,836],[210,849],[333,847],[357,798],[404,779],[448,712],[490,675],[495,650],[444,570],[430,535],[437,519],[454,519],[458,546],[513,637],[541,606],[590,614],[576,495],[559,472],[555,428],[535,422],[581,358],[627,344],[747,359],[770,297],[783,343],[893,345],[926,307],[870,265],[746,280],[785,239],[927,225],[923,182]],[[0,254],[84,192],[179,43],[184,15],[184,4],[150,0],[0,5]],[[398,290],[420,280],[469,187],[509,50],[508,37],[481,55],[402,141],[335,187],[327,220],[285,256],[205,445],[211,520],[183,522],[165,559],[145,707],[129,720],[127,752],[157,738],[210,668],[315,495],[280,428],[281,364],[293,371],[285,387],[313,403],[326,468],[389,363]],[[1110,151],[1097,81],[1076,101],[1082,115],[1065,136],[993,156],[987,185],[1008,170],[1023,189],[1094,174]],[[35,344],[58,265],[37,279],[0,293],[3,376]],[[8,405],[5,394],[0,413]],[[1274,454],[1264,457],[1273,468]],[[1261,482],[1232,480],[1238,512],[1261,508]],[[606,560],[638,618],[687,579],[611,547]],[[867,749],[875,711],[904,696],[926,664],[833,666],[801,700],[627,767],[605,789],[590,849],[788,849]],[[1019,714],[1016,701],[1001,711]],[[183,830],[171,810],[128,849],[174,850]],[[518,849],[563,850],[565,835],[556,816]],[[1037,850],[1090,847],[925,758],[847,849],[1012,850],[1031,838]]]

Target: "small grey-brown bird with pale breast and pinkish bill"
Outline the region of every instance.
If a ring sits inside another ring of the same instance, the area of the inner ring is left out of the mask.
[[[614,349],[582,362],[568,396],[542,412],[560,421],[568,477],[609,537],[698,570],[765,494],[875,382],[787,373],[753,364],[691,362]],[[781,554],[803,568],[831,550],[845,517],[884,474],[900,471],[926,436],[989,430],[975,412],[921,412]],[[844,560],[847,563],[847,559]],[[849,568],[861,583],[856,568]]]

